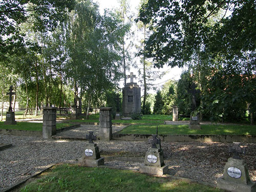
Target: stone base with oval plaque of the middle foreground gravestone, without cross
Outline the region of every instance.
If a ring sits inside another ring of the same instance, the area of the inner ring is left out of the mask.
[[[167,174],[168,165],[164,164],[163,151],[159,148],[148,148],[144,163],[140,165],[139,171],[152,175]]]

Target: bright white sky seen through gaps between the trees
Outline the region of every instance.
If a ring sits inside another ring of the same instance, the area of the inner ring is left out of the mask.
[[[93,2],[95,2],[99,5],[100,14],[104,13],[104,9],[116,9],[119,7],[118,0],[93,0]],[[135,15],[138,14],[139,2],[140,2],[139,0],[130,0],[129,1],[130,11],[133,12]],[[138,62],[138,61],[136,60],[136,62]],[[158,87],[157,89],[161,89],[161,86],[163,86],[164,82],[166,82],[169,79],[178,80],[183,71],[183,69],[180,69],[178,67],[170,68],[167,66],[164,66],[162,69],[159,69],[159,70],[160,71],[169,71],[169,72],[165,76],[163,76],[161,79],[157,79],[154,82],[154,84],[157,84],[157,87]],[[126,72],[126,75],[129,75],[131,72],[133,72],[138,77],[138,69],[131,68],[130,71]],[[130,79],[127,79],[126,82],[130,82]],[[137,80],[135,79],[134,82],[138,82],[138,79]],[[124,80],[120,81],[121,88],[123,87],[123,84],[124,84]],[[139,84],[139,86],[141,88],[143,87],[142,84]],[[156,91],[150,90],[149,93],[156,94]]]

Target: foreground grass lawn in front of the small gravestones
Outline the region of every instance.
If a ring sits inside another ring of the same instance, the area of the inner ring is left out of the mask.
[[[58,165],[43,173],[20,191],[224,191],[196,183],[151,177],[131,170]]]

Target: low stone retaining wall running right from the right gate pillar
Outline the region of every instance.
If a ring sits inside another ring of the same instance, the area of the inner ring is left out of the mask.
[[[113,139],[124,141],[147,141],[151,135],[113,134]],[[240,135],[158,135],[161,141],[172,142],[248,142],[256,143],[256,136]]]

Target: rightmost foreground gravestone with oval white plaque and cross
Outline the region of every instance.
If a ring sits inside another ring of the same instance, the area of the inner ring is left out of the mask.
[[[239,154],[245,154],[245,147],[241,148],[240,143],[234,142],[229,152],[233,153],[233,158],[228,159],[217,187],[233,192],[256,192],[256,182],[250,181],[247,165],[239,157]]]

